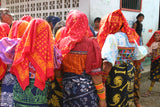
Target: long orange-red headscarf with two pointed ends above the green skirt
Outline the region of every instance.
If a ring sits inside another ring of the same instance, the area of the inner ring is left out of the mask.
[[[44,90],[45,82],[54,76],[54,40],[49,24],[33,19],[17,45],[11,71],[23,90],[29,85],[29,62],[36,70],[34,86]]]

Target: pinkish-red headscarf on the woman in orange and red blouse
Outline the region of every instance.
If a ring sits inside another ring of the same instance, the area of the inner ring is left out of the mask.
[[[69,12],[66,20],[65,33],[60,38],[59,49],[64,57],[69,53],[75,44],[80,42],[84,36],[92,37],[87,16],[77,10]]]

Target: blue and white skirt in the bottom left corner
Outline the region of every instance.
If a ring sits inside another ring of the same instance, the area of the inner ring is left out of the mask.
[[[13,107],[13,86],[15,82],[16,77],[7,72],[2,80],[1,107]]]

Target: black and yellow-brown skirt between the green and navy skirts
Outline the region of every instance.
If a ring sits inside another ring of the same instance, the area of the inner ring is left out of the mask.
[[[63,93],[56,78],[48,86],[48,107],[63,107]]]

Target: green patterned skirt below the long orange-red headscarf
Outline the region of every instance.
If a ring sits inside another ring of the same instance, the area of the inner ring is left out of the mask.
[[[14,107],[48,107],[47,91],[48,82],[45,84],[45,89],[41,91],[34,86],[34,79],[30,79],[29,86],[23,91],[16,81],[13,87]]]

